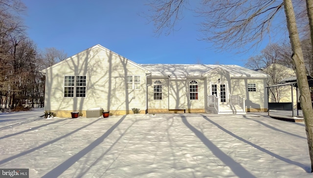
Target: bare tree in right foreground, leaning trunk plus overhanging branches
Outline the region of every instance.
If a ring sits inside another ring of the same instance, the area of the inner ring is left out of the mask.
[[[306,1],[311,37],[313,37],[313,1]],[[182,14],[186,3],[186,0],[154,0],[152,4],[155,6],[151,5],[154,14],[150,16],[150,20],[155,22],[156,31],[164,27],[173,29],[177,20],[181,18],[179,15]],[[214,42],[220,49],[228,50],[257,46],[265,35],[270,34],[273,19],[280,15],[282,9],[285,9],[287,19],[292,49],[291,58],[300,90],[300,103],[306,125],[311,171],[313,171],[313,108],[292,1],[202,0],[198,12],[205,17],[205,22],[201,25],[203,40]]]

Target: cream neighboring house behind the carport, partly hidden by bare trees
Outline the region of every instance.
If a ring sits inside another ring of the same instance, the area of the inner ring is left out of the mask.
[[[268,86],[280,83],[284,78],[295,76],[292,68],[282,66],[280,64],[271,64],[260,72],[268,74]],[[291,86],[280,86],[268,88],[268,101],[271,103],[291,102]],[[293,89],[293,96],[296,96],[296,89]],[[293,102],[297,103],[297,98],[293,98]]]

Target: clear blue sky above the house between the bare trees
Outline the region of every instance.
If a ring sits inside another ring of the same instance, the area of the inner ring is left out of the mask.
[[[200,41],[201,19],[188,12],[169,36],[154,34],[141,13],[147,0],[22,0],[27,34],[40,49],[55,47],[72,56],[102,45],[138,64],[227,64],[244,66],[246,54],[216,52]],[[261,49],[260,49],[261,50]]]

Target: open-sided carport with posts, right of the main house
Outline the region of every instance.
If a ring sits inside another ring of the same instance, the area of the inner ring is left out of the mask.
[[[308,78],[308,83],[309,83],[309,87],[313,87],[313,78],[311,76],[307,76]],[[278,84],[272,85],[272,86],[268,86],[266,87],[268,90],[269,88],[273,88],[273,87],[282,87],[282,86],[291,86],[291,102],[284,102],[284,103],[273,103],[273,102],[269,102],[268,100],[268,115],[269,115],[269,110],[281,110],[281,111],[292,111],[292,117],[294,117],[294,110],[293,110],[293,89],[296,89],[296,98],[297,98],[297,116],[299,116],[299,110],[301,110],[301,106],[299,103],[299,96],[298,96],[298,85],[297,85],[297,79],[296,77],[289,77],[289,78],[285,78],[282,79],[281,81],[278,82]],[[269,94],[269,91],[268,91]],[[311,98],[312,98],[312,90],[311,90]],[[313,106],[313,103],[312,103]]]

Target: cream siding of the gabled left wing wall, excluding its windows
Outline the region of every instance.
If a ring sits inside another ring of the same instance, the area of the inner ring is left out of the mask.
[[[87,76],[86,97],[64,97],[64,76]],[[146,71],[116,53],[93,47],[46,71],[45,110],[89,110],[101,107],[107,111],[145,110]],[[90,76],[90,77],[88,77]],[[127,76],[136,77],[136,88],[128,90]],[[52,97],[53,96],[53,97]]]

